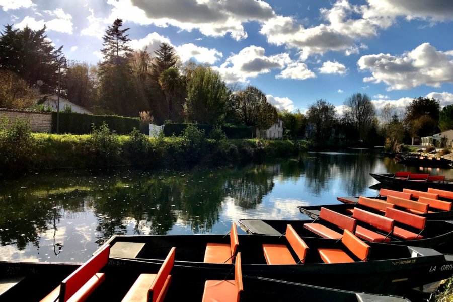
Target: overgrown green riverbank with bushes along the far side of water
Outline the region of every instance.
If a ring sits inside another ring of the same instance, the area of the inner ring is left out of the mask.
[[[90,135],[30,133],[13,136],[2,145],[0,174],[4,176],[47,169],[234,166],[288,158],[304,149],[300,142],[289,140],[207,138],[195,129],[179,137],[156,138],[138,131],[116,135],[102,127]]]

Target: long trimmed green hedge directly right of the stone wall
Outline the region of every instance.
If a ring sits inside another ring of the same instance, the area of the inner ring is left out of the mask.
[[[59,133],[88,134],[92,132],[92,124],[99,127],[104,121],[117,134],[128,134],[134,127],[140,128],[140,119],[137,117],[60,112]],[[56,133],[56,124],[57,113],[52,112],[52,133]]]

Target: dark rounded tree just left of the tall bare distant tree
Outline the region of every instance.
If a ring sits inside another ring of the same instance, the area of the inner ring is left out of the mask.
[[[313,125],[315,138],[318,142],[329,138],[337,120],[336,115],[335,106],[326,100],[317,100],[309,106],[307,110],[307,121]]]

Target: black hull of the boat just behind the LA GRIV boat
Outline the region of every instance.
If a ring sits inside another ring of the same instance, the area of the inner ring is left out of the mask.
[[[330,206],[326,206],[332,209]],[[344,208],[344,207],[343,207]],[[347,213],[341,209],[343,213]],[[312,231],[304,228],[304,224],[314,223],[312,219],[306,220],[260,220],[260,219],[240,219],[241,228],[252,235],[275,235],[281,236],[286,230],[286,225],[290,224],[296,232],[303,238],[319,237]],[[315,221],[329,225],[331,229],[340,231],[338,227],[330,222]],[[397,245],[410,245],[424,248],[432,248],[442,253],[453,253],[453,221],[427,220],[426,226],[420,233],[421,239],[404,240],[397,236],[390,236],[389,243]],[[336,239],[335,239],[336,240]]]

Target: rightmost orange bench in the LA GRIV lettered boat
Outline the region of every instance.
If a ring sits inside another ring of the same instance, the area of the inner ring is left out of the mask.
[[[370,246],[360,240],[357,236],[349,232],[349,230],[344,230],[343,237],[341,242],[352,252],[360,261],[367,261]],[[318,253],[321,256],[321,259],[324,263],[345,263],[345,262],[355,262],[348,253],[342,249],[318,249]]]

